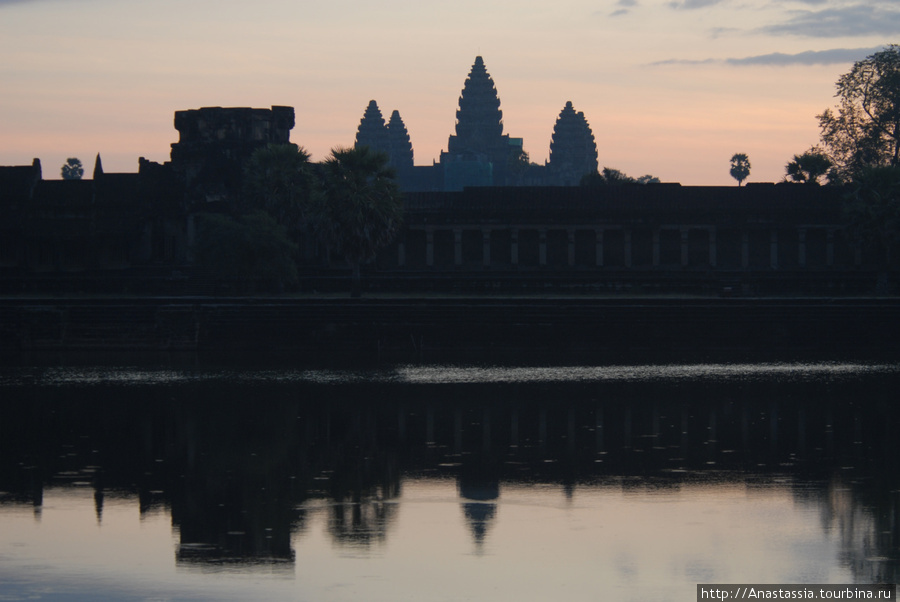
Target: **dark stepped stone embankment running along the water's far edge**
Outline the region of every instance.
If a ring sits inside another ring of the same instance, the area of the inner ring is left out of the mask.
[[[900,298],[0,297],[0,350],[359,358],[716,350],[900,352]]]

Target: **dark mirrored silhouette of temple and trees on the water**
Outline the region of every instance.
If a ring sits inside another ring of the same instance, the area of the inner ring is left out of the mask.
[[[337,546],[390,538],[412,478],[452,478],[477,553],[506,484],[803,483],[862,581],[900,577],[897,376],[621,383],[4,386],[0,504],[40,516],[48,486],[164,509],[176,562],[291,566],[307,502]],[[2,505],[0,505],[2,510]]]

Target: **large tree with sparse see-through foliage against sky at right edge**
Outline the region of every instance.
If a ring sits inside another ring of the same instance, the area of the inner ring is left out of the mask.
[[[817,118],[837,175],[850,180],[866,167],[900,165],[900,46],[854,63],[835,87],[838,106]]]

